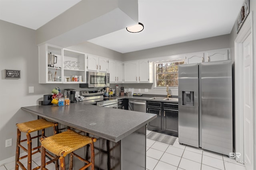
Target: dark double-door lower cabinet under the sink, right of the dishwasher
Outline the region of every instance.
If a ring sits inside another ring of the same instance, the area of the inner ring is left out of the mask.
[[[148,101],[147,112],[157,115],[148,123],[148,130],[178,136],[178,104]]]

